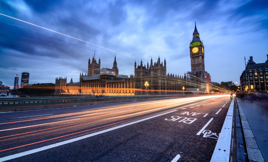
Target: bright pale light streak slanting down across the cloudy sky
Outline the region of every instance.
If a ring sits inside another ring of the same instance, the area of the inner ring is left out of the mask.
[[[125,55],[125,56],[128,56],[128,57],[132,57],[132,56],[123,54],[123,53],[121,53],[121,52],[117,52],[117,51],[115,51],[115,50],[111,50],[111,49],[108,49],[108,48],[106,48],[106,47],[103,47],[103,46],[100,46],[100,45],[96,45],[96,44],[90,43],[90,42],[88,42],[88,41],[84,41],[84,40],[82,40],[82,39],[79,39],[79,38],[76,38],[76,37],[73,37],[73,36],[69,36],[69,35],[67,35],[67,34],[63,34],[63,33],[60,33],[60,32],[58,32],[58,31],[54,31],[54,30],[51,30],[51,29],[48,29],[48,28],[45,28],[45,27],[42,27],[42,26],[33,24],[33,23],[31,23],[31,22],[28,22],[28,21],[24,21],[24,20],[15,18],[15,17],[11,17],[11,16],[8,16],[8,15],[2,14],[2,13],[0,13],[0,15],[5,16],[5,17],[9,17],[9,18],[12,18],[12,19],[14,19],[14,20],[21,21],[21,22],[24,22],[24,23],[27,23],[27,24],[30,24],[30,25],[33,25],[33,26],[36,26],[36,27],[39,27],[39,28],[42,28],[42,29],[45,29],[45,30],[48,30],[48,31],[51,31],[51,32],[54,32],[54,33],[57,33],[57,34],[60,34],[60,35],[63,35],[63,36],[67,36],[67,37],[69,37],[69,38],[73,38],[73,39],[75,39],[75,40],[82,41],[82,42],[84,42],[84,43],[88,43],[88,44],[90,44],[90,45],[95,45],[95,46],[100,47],[100,48],[103,48],[103,49],[105,49],[105,50],[109,50],[109,51],[116,52],[116,53],[121,54],[121,55]],[[135,57],[132,57],[132,58],[136,59]]]

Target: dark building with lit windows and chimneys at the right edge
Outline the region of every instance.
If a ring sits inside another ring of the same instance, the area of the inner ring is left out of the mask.
[[[250,56],[246,69],[240,76],[241,91],[267,91],[268,90],[268,55],[265,63],[256,64]]]

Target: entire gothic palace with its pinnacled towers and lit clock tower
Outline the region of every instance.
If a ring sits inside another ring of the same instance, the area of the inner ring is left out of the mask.
[[[199,32],[195,29],[193,40],[190,43],[191,71],[184,76],[167,74],[166,60],[161,62],[160,57],[153,63],[143,65],[134,64],[134,76],[119,75],[116,56],[112,69],[100,68],[100,59],[95,54],[92,61],[89,58],[88,74],[81,74],[79,82],[73,79],[67,83],[67,78],[56,78],[55,94],[90,94],[105,96],[145,95],[148,94],[182,94],[184,91],[210,92],[210,74],[205,71],[204,45],[200,40]],[[149,83],[148,89],[144,83]]]

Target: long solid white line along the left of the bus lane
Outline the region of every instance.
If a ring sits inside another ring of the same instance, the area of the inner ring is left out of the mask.
[[[37,149],[21,152],[21,153],[14,154],[14,155],[9,155],[9,156],[0,158],[0,161],[11,160],[11,159],[15,159],[15,158],[22,157],[22,156],[25,156],[25,155],[40,152],[40,151],[43,151],[43,150],[51,149],[51,148],[54,148],[54,147],[57,147],[57,146],[60,146],[60,145],[65,145],[65,144],[68,144],[68,143],[71,143],[71,142],[75,142],[75,141],[79,141],[79,140],[82,140],[82,139],[85,139],[85,138],[96,136],[96,135],[99,135],[99,134],[102,134],[102,133],[105,133],[105,132],[108,132],[108,131],[112,131],[112,130],[115,130],[115,129],[118,129],[118,128],[122,128],[124,126],[129,126],[129,125],[132,125],[132,124],[136,124],[138,122],[143,122],[143,121],[146,121],[148,119],[159,117],[159,116],[162,116],[162,115],[165,115],[165,114],[168,114],[168,113],[171,113],[171,112],[175,112],[175,111],[177,111],[177,110],[173,110],[173,111],[170,111],[170,112],[165,112],[165,113],[158,114],[158,115],[155,115],[155,116],[152,116],[152,117],[147,117],[147,118],[137,120],[135,122],[130,122],[130,123],[127,123],[127,124],[123,124],[123,125],[120,125],[120,126],[115,126],[113,128],[109,128],[109,129],[98,131],[98,132],[95,132],[95,133],[91,133],[91,134],[88,134],[88,135],[85,135],[85,136],[73,138],[73,139],[70,139],[70,140],[67,140],[67,141],[62,141],[62,142],[59,142],[59,143],[55,143],[55,144],[52,144],[52,145],[47,145],[47,146],[40,147],[40,148],[37,148]]]

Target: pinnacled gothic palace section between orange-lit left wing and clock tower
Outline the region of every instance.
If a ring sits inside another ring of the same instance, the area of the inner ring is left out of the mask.
[[[182,88],[186,90],[186,74],[184,78],[177,74],[166,74],[166,60],[163,64],[163,61],[160,62],[160,57],[154,63],[151,58],[150,66],[147,62],[147,67],[145,64],[142,65],[142,60],[140,65],[137,65],[135,61],[134,67],[136,95],[146,94],[144,86],[146,81],[149,83],[148,94],[182,94]]]

